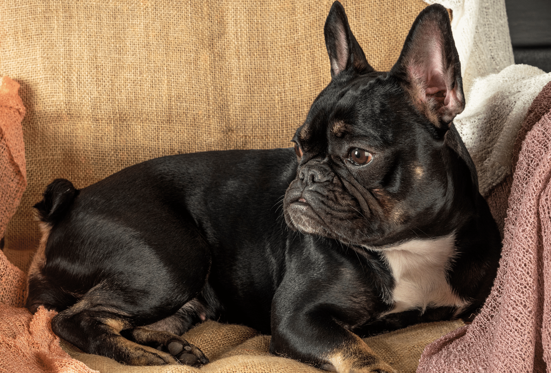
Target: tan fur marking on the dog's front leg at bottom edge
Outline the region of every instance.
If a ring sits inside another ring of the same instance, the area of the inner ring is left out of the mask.
[[[352,342],[346,342],[325,356],[339,373],[388,372],[397,373],[369,348],[356,334]]]

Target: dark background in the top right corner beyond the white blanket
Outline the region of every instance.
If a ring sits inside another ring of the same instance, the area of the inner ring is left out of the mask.
[[[551,0],[505,0],[515,63],[551,72]]]

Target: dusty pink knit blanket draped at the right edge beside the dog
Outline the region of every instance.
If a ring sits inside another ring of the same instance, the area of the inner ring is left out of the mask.
[[[515,148],[490,296],[471,325],[425,348],[417,372],[551,371],[551,83],[528,110]]]

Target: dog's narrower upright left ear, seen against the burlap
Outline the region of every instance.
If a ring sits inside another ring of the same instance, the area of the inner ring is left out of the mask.
[[[352,35],[344,8],[338,1],[329,10],[323,34],[331,61],[331,78],[350,68],[359,74],[373,71],[365,59],[364,51]]]

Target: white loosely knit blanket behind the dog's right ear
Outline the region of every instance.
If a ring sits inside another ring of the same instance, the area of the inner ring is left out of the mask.
[[[504,0],[424,0],[452,9],[465,110],[455,123],[478,171],[480,193],[511,172],[512,147],[526,111],[551,73],[515,65]]]

